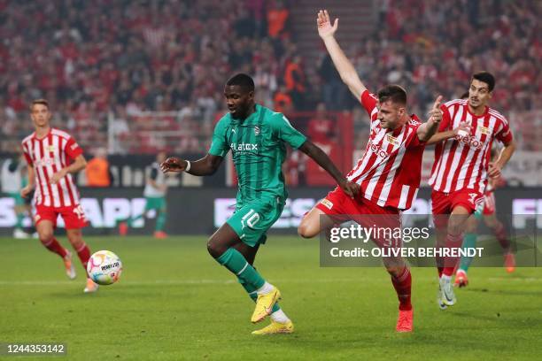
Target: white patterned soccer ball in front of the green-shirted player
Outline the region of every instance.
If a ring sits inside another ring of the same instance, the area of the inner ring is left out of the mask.
[[[122,262],[111,250],[98,250],[89,258],[87,273],[98,285],[112,285],[119,280]]]

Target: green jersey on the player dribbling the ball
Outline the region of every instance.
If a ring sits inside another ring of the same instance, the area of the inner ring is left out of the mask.
[[[282,113],[256,104],[247,119],[233,119],[228,113],[214,127],[209,154],[224,157],[232,151],[239,190],[238,202],[251,202],[262,197],[288,196],[284,186],[282,165],[286,144],[299,148],[306,136],[291,127]]]

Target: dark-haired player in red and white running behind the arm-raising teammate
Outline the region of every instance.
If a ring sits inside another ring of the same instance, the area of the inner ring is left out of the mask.
[[[487,104],[492,98],[495,78],[491,73],[473,74],[468,99],[455,99],[442,105],[443,121],[439,131],[457,127],[461,122],[469,131],[437,142],[430,186],[433,219],[437,230],[437,247],[459,248],[468,217],[484,202],[488,177],[497,178],[515,150],[515,141],[507,119]],[[436,138],[440,133],[436,135]],[[444,135],[443,135],[444,136]],[[490,161],[492,143],[504,144],[494,162]],[[441,309],[456,303],[452,275],[457,257],[437,257]]]

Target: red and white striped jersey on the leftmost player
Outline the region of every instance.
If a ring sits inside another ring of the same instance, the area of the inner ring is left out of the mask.
[[[50,128],[42,139],[38,139],[35,133],[28,135],[22,141],[22,148],[28,165],[34,167],[36,205],[57,208],[79,204],[79,191],[72,174],[66,174],[57,184],[50,183],[54,173],[82,154],[81,147],[70,134]]]

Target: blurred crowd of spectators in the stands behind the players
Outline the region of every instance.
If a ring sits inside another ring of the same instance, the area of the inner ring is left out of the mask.
[[[277,111],[354,110],[361,129],[356,141],[364,144],[365,114],[329,57],[322,50],[320,62],[307,64],[300,54],[292,6],[282,0],[0,0],[0,151],[31,133],[27,104],[38,97],[50,101],[54,124],[83,147],[105,146],[109,128],[127,140],[114,149],[120,153],[142,151],[156,131],[184,137],[174,151],[205,151],[224,109],[223,84],[236,72],[252,74],[259,102]],[[485,69],[497,77],[496,109],[542,109],[540,2],[383,0],[375,6],[374,32],[345,49],[368,88],[399,83],[411,111],[423,115],[437,94],[460,96],[470,73]],[[155,121],[147,111],[166,116]],[[160,147],[157,141],[144,150]]]

